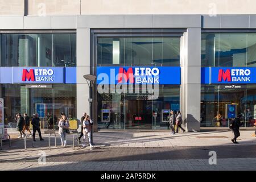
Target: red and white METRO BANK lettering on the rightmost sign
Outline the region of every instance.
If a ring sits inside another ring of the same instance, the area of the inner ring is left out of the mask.
[[[250,69],[219,69],[218,82],[250,82]]]

